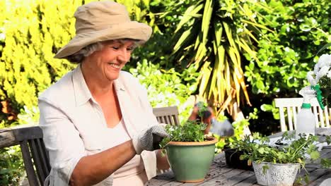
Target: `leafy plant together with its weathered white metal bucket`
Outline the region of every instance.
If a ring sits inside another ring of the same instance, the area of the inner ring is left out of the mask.
[[[247,159],[252,163],[257,183],[260,185],[293,185],[296,175],[304,168],[308,159],[320,158],[318,137],[302,135],[297,140],[294,135],[284,133],[279,142],[288,142],[272,145],[269,138],[259,135],[258,142],[245,146],[245,151],[240,159]],[[308,173],[308,172],[307,172]]]

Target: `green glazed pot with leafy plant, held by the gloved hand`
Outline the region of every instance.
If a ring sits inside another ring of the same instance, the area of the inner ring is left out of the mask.
[[[204,135],[206,128],[207,124],[202,120],[187,120],[183,125],[165,126],[170,137],[163,138],[160,146],[166,151],[178,182],[202,182],[207,175],[218,140]]]

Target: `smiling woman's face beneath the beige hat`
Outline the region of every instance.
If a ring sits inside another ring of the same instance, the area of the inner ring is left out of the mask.
[[[116,80],[120,70],[131,57],[134,49],[132,40],[115,40],[103,42],[103,49],[95,51],[83,62],[86,70],[98,76],[101,80]]]

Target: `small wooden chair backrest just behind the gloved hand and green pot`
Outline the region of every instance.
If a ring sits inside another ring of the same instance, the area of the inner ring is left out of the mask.
[[[179,125],[178,107],[168,106],[161,108],[153,108],[153,113],[158,120],[158,123],[165,123],[169,125]]]

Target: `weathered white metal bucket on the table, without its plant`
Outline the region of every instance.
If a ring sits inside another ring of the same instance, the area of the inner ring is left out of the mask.
[[[257,183],[269,186],[292,186],[300,168],[299,163],[253,162],[252,166],[254,168]]]

